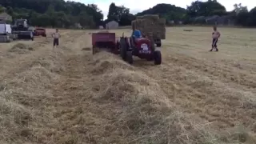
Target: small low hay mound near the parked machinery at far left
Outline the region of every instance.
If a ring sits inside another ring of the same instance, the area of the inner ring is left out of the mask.
[[[33,47],[27,46],[23,43],[17,43],[10,48],[9,52],[17,54],[30,54],[30,51],[34,50]]]

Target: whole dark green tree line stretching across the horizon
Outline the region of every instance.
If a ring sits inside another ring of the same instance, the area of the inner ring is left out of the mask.
[[[129,8],[116,6],[113,2],[106,20],[103,20],[102,10],[96,4],[85,5],[64,0],[2,0],[0,13],[3,11],[14,19],[28,19],[32,26],[70,28],[79,23],[85,28],[97,28],[112,20],[120,26],[129,26],[136,16],[144,14],[158,14],[160,18],[166,18],[166,22],[182,21],[186,24],[205,23],[206,20],[200,17],[228,16],[234,20],[235,25],[256,26],[256,7],[249,11],[246,6],[234,4],[234,10],[227,11],[217,0],[191,2],[186,9],[161,3],[138,14],[130,14]]]

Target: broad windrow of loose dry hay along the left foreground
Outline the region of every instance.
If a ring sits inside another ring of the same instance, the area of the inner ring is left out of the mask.
[[[55,99],[49,90],[58,79],[58,75],[51,72],[58,64],[50,66],[50,63],[58,63],[54,62],[56,60],[56,57],[38,60],[45,65],[32,62],[29,68],[0,83],[0,139],[3,143],[44,143],[40,135],[47,130],[46,123],[50,123],[46,105]]]

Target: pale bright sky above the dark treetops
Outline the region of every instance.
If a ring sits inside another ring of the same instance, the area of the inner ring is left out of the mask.
[[[98,5],[98,8],[102,10],[104,14],[104,18],[106,18],[106,15],[108,13],[108,9],[111,2],[114,2],[117,6],[126,6],[127,8],[130,8],[130,13],[137,14],[138,12],[141,12],[142,10],[149,9],[150,7],[153,7],[157,5],[158,3],[170,3],[175,6],[180,6],[183,8],[186,8],[187,5],[190,5],[191,2],[194,2],[195,0],[74,0],[75,2],[82,2],[85,4],[94,3]],[[207,1],[207,0],[202,0]],[[256,6],[256,0],[218,0],[223,6],[226,7],[226,10],[230,11],[233,10],[235,3],[242,3],[242,6],[247,6],[248,10],[251,10]]]

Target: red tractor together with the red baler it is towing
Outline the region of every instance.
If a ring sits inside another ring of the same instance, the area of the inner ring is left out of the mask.
[[[151,38],[152,39],[152,38]],[[155,65],[162,63],[162,55],[159,50],[155,50],[154,40],[150,38],[126,38],[122,34],[116,39],[115,33],[98,32],[92,34],[93,54],[98,50],[107,50],[114,54],[120,54],[122,59],[133,64],[133,56],[154,61]]]

